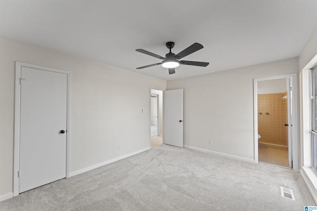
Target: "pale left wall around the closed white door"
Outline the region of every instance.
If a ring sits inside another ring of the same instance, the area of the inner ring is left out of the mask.
[[[150,146],[142,109],[165,81],[0,36],[0,196],[13,186],[15,61],[71,72],[71,172]]]

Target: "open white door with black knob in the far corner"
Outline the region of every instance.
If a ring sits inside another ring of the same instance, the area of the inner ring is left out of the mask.
[[[183,89],[164,91],[163,142],[183,147]]]

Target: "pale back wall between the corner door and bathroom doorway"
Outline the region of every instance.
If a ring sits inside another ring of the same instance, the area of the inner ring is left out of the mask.
[[[298,58],[167,81],[184,89],[184,144],[254,159],[253,79],[290,73]]]

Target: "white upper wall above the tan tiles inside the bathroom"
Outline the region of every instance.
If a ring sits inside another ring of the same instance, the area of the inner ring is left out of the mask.
[[[258,82],[258,94],[283,93],[287,91],[287,79]]]

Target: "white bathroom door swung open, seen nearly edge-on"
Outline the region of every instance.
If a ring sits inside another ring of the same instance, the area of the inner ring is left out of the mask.
[[[292,78],[288,78],[288,165],[289,168],[293,168],[293,133],[292,133],[292,129],[293,129],[293,108],[292,108],[292,104],[293,104],[293,90],[292,90]]]

